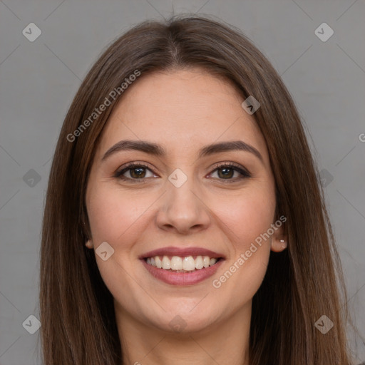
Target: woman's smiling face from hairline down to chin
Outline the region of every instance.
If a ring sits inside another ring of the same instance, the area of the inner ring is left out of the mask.
[[[110,115],[88,180],[87,245],[120,316],[198,331],[250,314],[282,228],[242,101],[195,68],[140,76]]]

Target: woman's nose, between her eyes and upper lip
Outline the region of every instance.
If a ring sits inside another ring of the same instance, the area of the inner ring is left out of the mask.
[[[167,191],[159,203],[156,222],[162,230],[186,235],[205,230],[210,225],[209,207],[193,179],[188,178],[180,187],[168,181]]]

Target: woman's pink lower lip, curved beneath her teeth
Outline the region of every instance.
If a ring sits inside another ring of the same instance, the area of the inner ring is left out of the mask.
[[[150,274],[152,274],[156,279],[160,279],[167,284],[194,285],[215,274],[224,260],[220,259],[220,261],[218,261],[213,266],[197,269],[193,272],[171,272],[165,269],[158,269],[158,267],[152,266],[145,262],[144,259],[141,259],[140,261],[145,266],[145,268],[148,269]]]

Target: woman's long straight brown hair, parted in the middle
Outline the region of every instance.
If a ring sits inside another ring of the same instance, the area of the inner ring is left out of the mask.
[[[154,71],[190,67],[225,78],[244,98],[254,96],[261,104],[254,116],[272,164],[277,217],[287,217],[288,250],[271,252],[267,274],[253,298],[250,364],[351,364],[341,265],[297,109],[269,61],[240,31],[197,16],[145,21],[120,36],[91,68],[68,110],[43,217],[44,363],[122,364],[113,297],[95,255],[85,247],[91,237],[85,204],[88,174],[108,116],[123,98],[120,85],[125,78],[136,70],[142,78]],[[115,94],[113,101],[110,93]],[[106,98],[112,104],[91,119]],[[322,315],[334,323],[327,334],[314,325]]]

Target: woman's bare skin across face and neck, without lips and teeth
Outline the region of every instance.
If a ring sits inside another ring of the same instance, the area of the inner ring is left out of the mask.
[[[96,259],[114,297],[123,364],[248,364],[252,297],[270,250],[284,250],[286,237],[278,227],[238,263],[277,221],[267,146],[243,100],[230,83],[198,68],[142,75],[103,130],[88,180],[92,239],[86,245],[96,250],[108,242],[114,250],[106,261]],[[120,140],[157,143],[165,155],[119,150],[102,160]],[[205,145],[237,140],[262,159],[248,150],[198,157]],[[148,167],[140,175],[125,170],[127,180],[115,177],[131,162]],[[222,167],[228,163],[249,176]],[[177,168],[187,178],[180,187],[168,180]],[[197,284],[168,284],[140,259],[168,246],[209,249],[224,260]],[[234,273],[220,280],[232,266]]]

